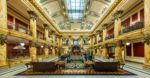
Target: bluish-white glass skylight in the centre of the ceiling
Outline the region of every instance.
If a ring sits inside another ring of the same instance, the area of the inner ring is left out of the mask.
[[[86,0],[65,0],[70,20],[80,20],[84,16]]]

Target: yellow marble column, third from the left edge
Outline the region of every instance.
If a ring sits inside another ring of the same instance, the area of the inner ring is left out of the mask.
[[[45,56],[48,56],[49,55],[49,49],[48,49],[48,35],[49,35],[49,26],[47,24],[44,24],[44,31],[45,31],[45,40],[46,40],[46,44],[44,46],[44,54]]]

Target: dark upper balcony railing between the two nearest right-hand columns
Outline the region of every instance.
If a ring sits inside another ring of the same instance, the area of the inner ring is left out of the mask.
[[[144,23],[143,22],[136,22],[132,26],[123,28],[122,31],[120,32],[120,35],[124,34],[124,33],[128,33],[128,32],[134,31],[134,30],[137,30],[137,29],[141,29],[141,28],[144,28]]]

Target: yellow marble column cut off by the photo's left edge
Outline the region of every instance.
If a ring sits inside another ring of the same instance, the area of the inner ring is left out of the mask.
[[[0,29],[7,29],[7,0],[0,0]],[[0,32],[4,35],[7,32]],[[0,66],[7,65],[7,44],[0,44]]]

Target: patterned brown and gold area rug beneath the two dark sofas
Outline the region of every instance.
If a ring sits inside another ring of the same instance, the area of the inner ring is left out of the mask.
[[[119,69],[116,72],[96,72],[89,69],[62,69],[55,72],[32,72],[32,70],[26,70],[16,74],[16,76],[30,76],[30,75],[136,75],[126,70]]]

